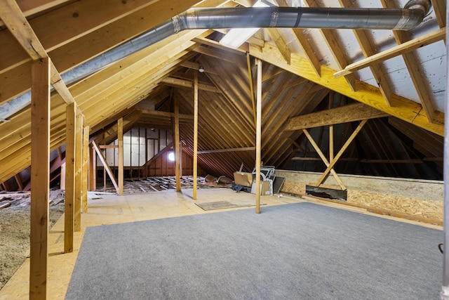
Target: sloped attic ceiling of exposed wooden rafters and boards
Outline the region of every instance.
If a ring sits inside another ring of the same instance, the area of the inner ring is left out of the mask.
[[[60,73],[192,6],[252,6],[254,2],[17,1]],[[326,110],[338,95],[397,119],[393,126],[421,148],[420,153],[442,157],[441,151],[432,152],[420,143],[427,141],[426,132],[443,136],[446,8],[443,0],[431,2],[431,13],[411,32],[264,29],[234,50],[218,43],[226,30],[186,30],[68,88],[90,126],[91,136],[109,130],[110,141],[116,134],[112,127],[120,117],[125,128],[171,128],[169,112],[173,112],[173,103],[179,103],[181,139],[187,145],[185,150],[192,152],[193,78],[198,67],[204,67],[206,72],[199,74],[199,150],[203,151],[199,163],[213,174],[230,176],[242,162],[246,171],[254,166],[251,86],[254,91],[254,60],[260,58],[264,163],[286,166],[304,141],[302,131],[284,130],[288,120]],[[287,6],[291,1],[274,3]],[[311,7],[402,8],[405,4],[384,0],[300,1],[300,5]],[[3,22],[0,25],[0,105],[4,105],[29,90],[32,59],[13,37],[11,28]],[[410,45],[401,46],[408,41]],[[340,70],[349,71],[335,77]],[[155,110],[142,108],[142,100],[152,100]],[[55,150],[65,143],[66,103],[53,93],[51,105],[51,149]],[[7,121],[0,123],[0,183],[29,167],[31,156],[29,107],[8,116]],[[410,126],[420,130],[413,137]],[[434,143],[435,148],[442,147],[441,139]],[[230,148],[239,150],[206,153]]]

